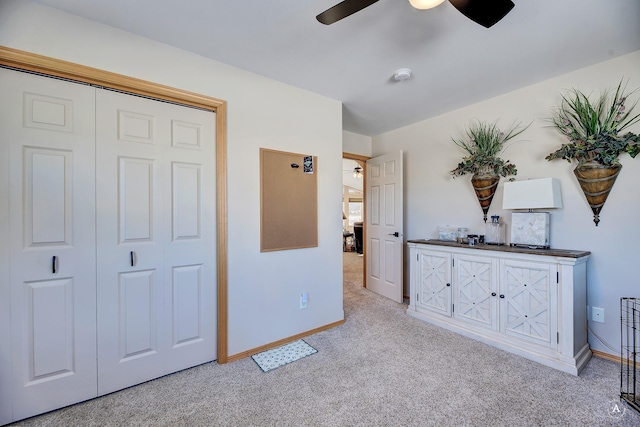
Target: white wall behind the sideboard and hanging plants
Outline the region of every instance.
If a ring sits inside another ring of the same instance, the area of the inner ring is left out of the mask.
[[[569,54],[569,53],[568,53]],[[598,227],[580,189],[575,164],[545,156],[564,142],[546,119],[559,102],[564,89],[579,88],[598,95],[615,88],[621,78],[629,79],[629,89],[640,87],[640,51],[596,64],[506,95],[397,129],[373,138],[373,155],[404,150],[405,236],[407,239],[436,238],[441,225],[466,226],[482,234],[482,210],[470,177],[455,180],[449,174],[464,153],[451,142],[472,118],[494,121],[503,127],[513,120],[533,122],[510,146],[504,157],[518,168],[517,179],[556,177],[561,181],[564,208],[551,214],[551,246],[591,251],[588,263],[587,298],[590,306],[605,309],[605,323],[589,322],[589,328],[610,344],[607,348],[593,335],[593,349],[615,354],[620,346],[619,299],[640,297],[640,157],[621,156],[623,169],[602,209]],[[635,99],[640,93],[635,94]],[[427,100],[428,101],[428,100]],[[629,105],[629,104],[627,104]],[[635,111],[640,113],[640,108]],[[630,129],[640,132],[640,125]],[[489,215],[506,219],[503,211],[502,183],[491,204]],[[507,233],[507,242],[509,236]],[[405,277],[406,268],[405,268]]]

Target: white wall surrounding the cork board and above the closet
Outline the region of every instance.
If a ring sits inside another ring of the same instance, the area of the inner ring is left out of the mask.
[[[0,45],[228,101],[230,355],[344,318],[340,102],[26,0]],[[318,156],[317,248],[260,252],[261,147]]]

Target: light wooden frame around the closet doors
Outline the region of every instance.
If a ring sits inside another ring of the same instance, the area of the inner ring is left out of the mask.
[[[215,112],[217,361],[228,362],[227,102],[145,80],[0,46],[0,66],[116,89]]]

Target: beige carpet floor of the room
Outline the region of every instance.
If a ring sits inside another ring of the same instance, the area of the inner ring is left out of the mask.
[[[346,323],[305,338],[318,353],[268,373],[208,363],[31,418],[24,426],[639,426],[619,366],[579,377],[406,315],[361,283],[345,253]]]

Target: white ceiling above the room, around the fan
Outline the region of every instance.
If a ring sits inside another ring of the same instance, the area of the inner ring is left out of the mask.
[[[325,26],[339,0],[37,1],[342,101],[343,129],[369,136],[640,49],[638,0],[513,0],[489,29],[448,2]]]

